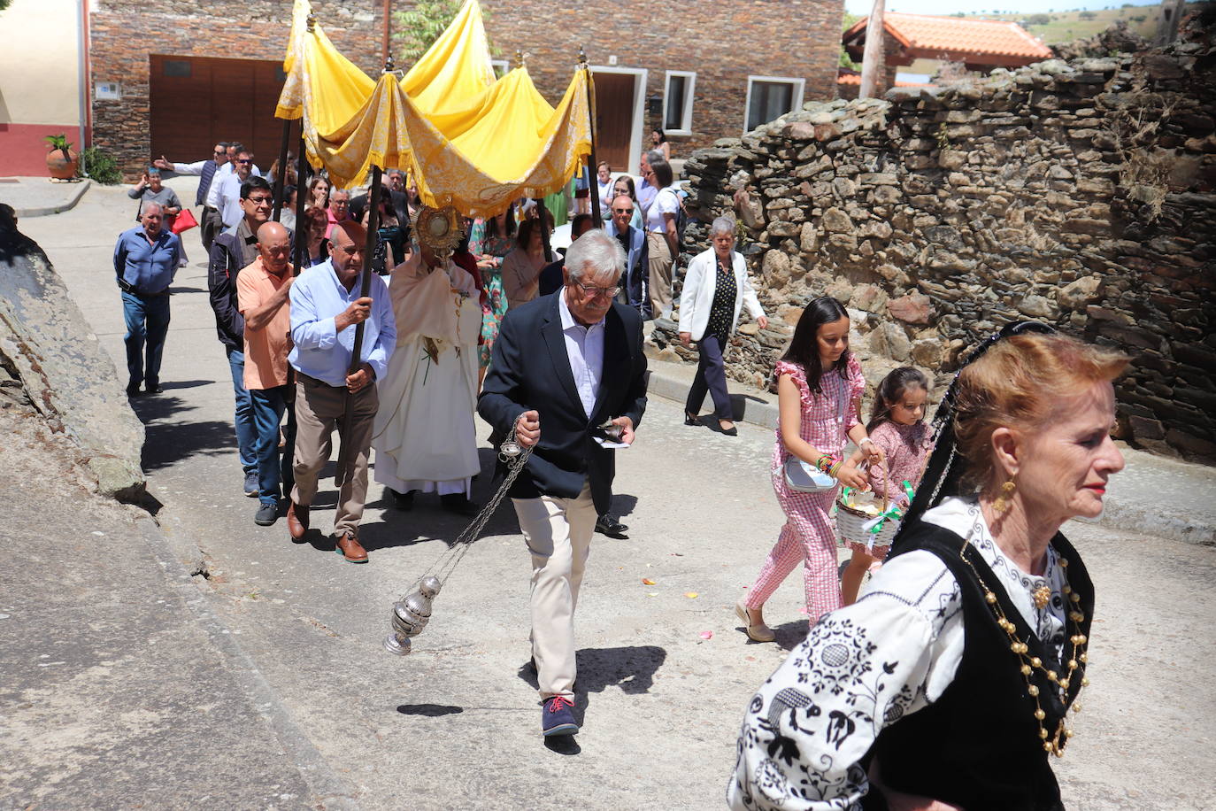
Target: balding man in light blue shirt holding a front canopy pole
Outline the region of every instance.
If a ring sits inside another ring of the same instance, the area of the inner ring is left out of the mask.
[[[316,479],[330,461],[332,434],[347,460],[338,471],[338,509],[333,520],[336,552],[350,563],[367,563],[359,544],[359,520],[367,501],[367,457],[372,419],[379,407],[376,381],[384,377],[396,345],[396,322],[388,285],[371,277],[367,297],[360,297],[360,271],[367,260],[367,231],[354,220],[333,227],[330,259],[309,267],[292,285],[292,342],[287,356],[295,370],[295,486],[287,511],[287,530],[300,540],[309,528],[309,506]],[[364,323],[360,366],[350,373],[355,330]],[[347,394],[351,416],[344,419]]]

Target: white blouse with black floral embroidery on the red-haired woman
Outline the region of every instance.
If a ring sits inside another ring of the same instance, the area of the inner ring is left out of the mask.
[[[923,520],[968,539],[1038,638],[1063,653],[1064,573],[1051,546],[1045,575],[1034,576],[1001,553],[975,501],[946,499]],[[1052,599],[1037,609],[1031,593],[1045,584]],[[857,761],[884,727],[942,694],[963,638],[959,586],[945,563],[923,550],[891,558],[861,599],[826,614],[751,699],[730,807],[860,809],[868,782]]]

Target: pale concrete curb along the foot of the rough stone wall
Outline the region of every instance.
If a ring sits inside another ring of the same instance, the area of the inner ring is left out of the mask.
[[[688,394],[688,382],[662,372],[648,373],[647,392],[655,396],[683,404]],[[731,381],[733,383],[733,381]],[[760,428],[777,428],[778,409],[776,402],[765,402],[758,398],[731,393],[736,422],[745,422]],[[1096,522],[1121,531],[1144,533],[1156,537],[1167,537],[1197,546],[1216,546],[1216,528],[1201,519],[1189,518],[1178,512],[1167,512],[1169,505],[1160,508],[1144,507],[1135,502],[1124,502],[1118,496],[1107,496],[1107,508]]]

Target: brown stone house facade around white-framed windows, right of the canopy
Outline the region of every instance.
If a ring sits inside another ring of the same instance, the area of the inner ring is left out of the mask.
[[[668,71],[696,72],[692,135],[671,136],[674,157],[741,135],[748,75],[805,79],[804,100],[835,98],[841,0],[748,0],[743,2],[554,4],[547,0],[486,0],[486,33],[501,58],[517,49],[531,53],[536,88],[559,98],[581,45],[592,64],[646,68],[647,97],[662,101]],[[644,116],[643,133],[662,124]]]

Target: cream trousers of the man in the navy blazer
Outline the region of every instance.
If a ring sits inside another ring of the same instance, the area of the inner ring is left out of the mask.
[[[574,695],[574,608],[596,530],[591,485],[576,499],[512,499],[533,558],[531,643],[541,699]]]

